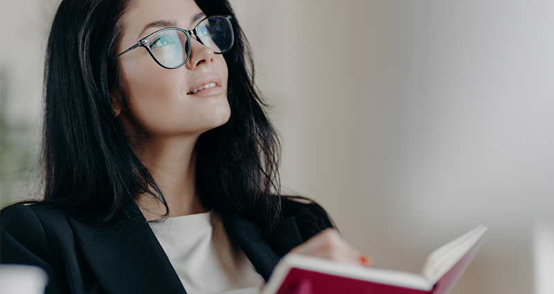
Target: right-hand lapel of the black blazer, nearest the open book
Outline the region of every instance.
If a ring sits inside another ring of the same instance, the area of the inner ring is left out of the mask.
[[[294,246],[302,243],[294,217],[281,221],[274,230],[287,232],[288,246],[286,250],[272,248],[268,244],[267,238],[263,237],[260,226],[252,221],[234,216],[224,217],[224,223],[229,237],[240,246],[244,255],[250,259],[254,268],[256,268],[266,282],[280,257],[294,248]]]

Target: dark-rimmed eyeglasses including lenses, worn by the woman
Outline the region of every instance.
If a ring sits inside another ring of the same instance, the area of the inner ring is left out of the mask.
[[[144,47],[157,64],[163,68],[178,68],[186,64],[190,57],[190,36],[195,35],[198,42],[213,49],[213,53],[222,54],[231,50],[235,42],[231,15],[214,15],[202,19],[193,30],[182,28],[162,28],[140,39],[134,46],[119,53],[121,55],[134,48]]]

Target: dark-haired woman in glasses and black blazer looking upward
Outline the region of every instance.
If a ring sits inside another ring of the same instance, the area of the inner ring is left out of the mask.
[[[47,293],[258,293],[291,250],[368,264],[280,195],[226,0],[64,0],[46,53],[44,200],[0,214],[0,263]]]

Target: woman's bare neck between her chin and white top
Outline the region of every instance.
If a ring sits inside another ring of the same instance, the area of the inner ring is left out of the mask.
[[[135,152],[156,181],[169,208],[169,217],[206,212],[196,190],[195,138],[149,138]],[[166,208],[148,194],[137,203],[148,220],[159,219]]]

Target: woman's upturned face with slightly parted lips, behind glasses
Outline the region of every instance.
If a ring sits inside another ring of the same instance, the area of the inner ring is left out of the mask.
[[[204,17],[194,0],[134,1],[123,15],[123,35],[116,51],[123,52],[168,26],[192,30]],[[195,37],[191,41],[190,58],[175,69],[159,66],[145,48],[118,57],[126,93],[125,101],[114,102],[114,107],[124,109],[118,118],[130,136],[199,136],[229,120],[223,55],[214,54]],[[216,86],[193,93],[210,83]]]

